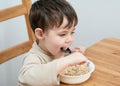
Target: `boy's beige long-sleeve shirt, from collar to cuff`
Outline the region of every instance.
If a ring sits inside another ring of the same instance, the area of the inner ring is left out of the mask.
[[[59,85],[57,59],[54,60],[41,50],[36,42],[26,55],[18,77],[18,86]]]

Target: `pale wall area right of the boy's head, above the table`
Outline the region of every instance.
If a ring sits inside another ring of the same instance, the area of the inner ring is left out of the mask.
[[[68,1],[79,17],[74,45],[88,47],[105,37],[120,38],[120,0]]]

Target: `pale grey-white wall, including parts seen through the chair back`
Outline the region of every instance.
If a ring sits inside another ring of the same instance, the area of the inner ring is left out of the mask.
[[[19,4],[21,0],[2,0],[0,9]],[[35,1],[35,0],[32,0]],[[89,47],[106,38],[120,38],[120,0],[68,0],[75,8],[79,23],[72,46]],[[13,24],[10,25],[9,23]],[[0,51],[28,39],[24,18],[0,22]],[[0,86],[17,86],[23,55],[0,65]]]

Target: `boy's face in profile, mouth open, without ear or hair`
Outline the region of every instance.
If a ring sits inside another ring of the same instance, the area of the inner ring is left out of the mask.
[[[64,52],[61,48],[67,49],[73,42],[74,26],[69,29],[64,28],[67,23],[66,18],[64,18],[60,27],[54,27],[44,33],[43,49],[54,58],[63,56]]]

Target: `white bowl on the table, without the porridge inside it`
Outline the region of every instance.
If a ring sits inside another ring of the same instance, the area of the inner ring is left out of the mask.
[[[89,60],[88,63],[88,66],[90,67],[90,71],[88,73],[80,76],[69,76],[60,74],[60,81],[66,84],[78,84],[87,81],[90,78],[92,72],[95,70],[95,65],[93,64],[93,62]]]

